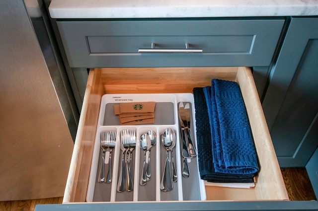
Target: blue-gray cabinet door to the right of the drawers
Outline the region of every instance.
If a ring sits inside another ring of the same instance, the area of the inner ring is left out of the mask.
[[[318,146],[317,55],[318,18],[291,18],[263,100],[281,167],[305,166]]]

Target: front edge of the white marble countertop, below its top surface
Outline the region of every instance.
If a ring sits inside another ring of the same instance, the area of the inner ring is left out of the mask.
[[[294,0],[296,1],[296,0]],[[251,17],[251,16],[316,16],[318,0],[314,3],[294,4],[202,4],[148,5],[109,3],[109,5],[72,6],[52,0],[49,12],[52,18],[184,18],[184,17]]]

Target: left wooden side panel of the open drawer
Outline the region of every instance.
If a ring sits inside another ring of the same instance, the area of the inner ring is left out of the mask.
[[[63,203],[85,202],[103,87],[98,70],[90,71]]]

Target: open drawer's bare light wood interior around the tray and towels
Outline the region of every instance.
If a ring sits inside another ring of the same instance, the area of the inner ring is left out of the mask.
[[[206,186],[207,201],[289,200],[250,69],[213,67],[90,70],[63,202],[85,202],[102,95],[189,93],[193,87],[210,85],[212,78],[235,80],[239,83],[260,170],[254,188]]]

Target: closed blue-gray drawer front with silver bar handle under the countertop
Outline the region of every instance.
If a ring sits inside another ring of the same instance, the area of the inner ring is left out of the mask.
[[[269,66],[284,19],[63,20],[57,23],[69,64],[74,68],[252,67]],[[140,53],[145,49],[147,52]],[[202,53],[188,52],[193,50]]]

